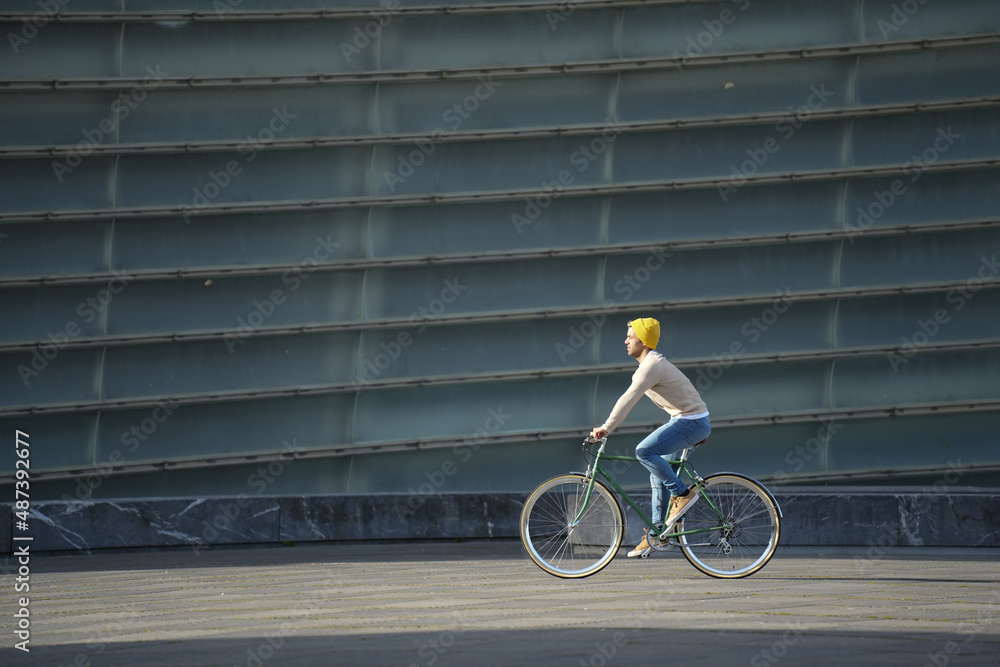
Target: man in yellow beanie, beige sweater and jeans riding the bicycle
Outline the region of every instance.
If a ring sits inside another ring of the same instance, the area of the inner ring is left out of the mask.
[[[667,459],[707,438],[712,425],[708,420],[708,406],[701,400],[698,390],[676,366],[656,351],[659,341],[660,323],[652,317],[628,323],[625,348],[629,356],[639,362],[639,368],[632,375],[628,391],[615,403],[607,421],[590,435],[594,438],[607,437],[625,420],[643,394],[670,415],[670,421],[646,436],[635,448],[639,462],[649,470],[652,519],[657,527],[663,525],[659,533],[662,535],[698,501],[698,489],[688,489]],[[666,517],[664,487],[671,496],[670,513]],[[656,536],[644,535],[642,542],[629,552],[628,557],[646,555],[653,544],[659,544]]]

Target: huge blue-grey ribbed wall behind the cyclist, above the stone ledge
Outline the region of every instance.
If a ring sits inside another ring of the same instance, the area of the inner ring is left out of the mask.
[[[527,489],[639,315],[705,471],[996,482],[1000,4],[179,4],[0,15],[37,493]]]

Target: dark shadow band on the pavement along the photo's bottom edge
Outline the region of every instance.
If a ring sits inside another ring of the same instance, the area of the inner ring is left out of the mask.
[[[612,621],[613,619],[609,619]],[[454,630],[414,633],[359,632],[35,646],[30,653],[0,650],[4,664],[52,667],[180,665],[261,667],[604,667],[671,664],[745,665],[995,665],[996,634],[803,632],[790,620],[783,632],[692,631],[684,628]],[[936,662],[935,662],[936,658]]]

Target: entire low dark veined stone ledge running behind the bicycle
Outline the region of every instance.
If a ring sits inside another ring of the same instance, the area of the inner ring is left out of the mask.
[[[637,490],[636,498],[648,493]],[[787,546],[1000,546],[1000,490],[775,491]],[[28,530],[0,506],[0,553],[339,540],[511,538],[522,493],[372,494],[33,502]],[[628,510],[627,541],[642,525]]]

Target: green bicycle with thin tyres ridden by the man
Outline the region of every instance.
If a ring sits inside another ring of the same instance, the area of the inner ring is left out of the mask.
[[[593,459],[587,471],[553,477],[525,501],[521,543],[538,567],[557,577],[580,578],[600,572],[614,559],[626,525],[625,512],[611,488],[646,523],[650,544],[656,544],[655,537],[662,540],[654,550],[679,546],[685,558],[709,576],[747,577],[771,560],[781,532],[781,508],[764,485],[746,475],[720,472],[701,477],[688,457],[704,440],[683,450],[678,459],[669,459],[678,476],[683,471],[691,479],[701,498],[664,533],[601,466],[602,461],[639,460],[605,454],[607,440],[586,438],[584,456]]]

